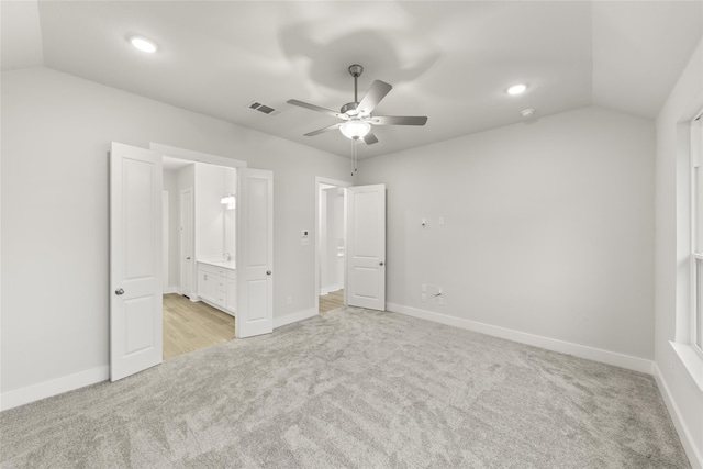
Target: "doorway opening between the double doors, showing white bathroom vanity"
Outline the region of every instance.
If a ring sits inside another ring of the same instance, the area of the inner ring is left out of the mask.
[[[163,295],[167,360],[235,337],[236,306],[226,299],[227,288],[236,291],[236,281],[227,281],[227,272],[236,271],[236,169],[168,156],[163,157],[163,167],[164,192],[175,204],[165,203],[170,213],[164,215],[168,246],[164,264],[169,266],[164,270]],[[225,272],[222,281],[219,268]]]

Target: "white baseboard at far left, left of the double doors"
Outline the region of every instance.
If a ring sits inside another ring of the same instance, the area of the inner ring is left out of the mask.
[[[26,388],[7,391],[0,394],[0,410],[5,411],[41,399],[51,398],[52,395],[63,394],[85,386],[105,381],[109,378],[110,367],[105,365],[104,367],[92,368],[51,381],[27,386]]]

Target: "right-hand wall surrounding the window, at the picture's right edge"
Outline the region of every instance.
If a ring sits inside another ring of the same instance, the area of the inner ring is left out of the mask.
[[[703,467],[703,389],[693,381],[670,340],[690,340],[689,129],[701,109],[703,42],[657,116],[656,376],[694,467]],[[703,365],[695,358],[690,366],[703,376]]]

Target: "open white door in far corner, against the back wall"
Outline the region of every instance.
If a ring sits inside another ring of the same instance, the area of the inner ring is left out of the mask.
[[[386,185],[347,189],[349,306],[386,310]]]

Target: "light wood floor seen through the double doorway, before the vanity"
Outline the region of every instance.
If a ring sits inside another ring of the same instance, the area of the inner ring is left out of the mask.
[[[164,359],[234,338],[234,317],[202,301],[164,295]]]

